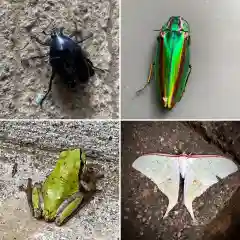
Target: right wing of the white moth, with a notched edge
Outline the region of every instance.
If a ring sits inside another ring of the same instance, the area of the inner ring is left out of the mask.
[[[221,156],[199,156],[187,160],[184,179],[184,204],[194,222],[197,222],[192,208],[195,198],[201,196],[209,187],[238,170],[237,165]]]

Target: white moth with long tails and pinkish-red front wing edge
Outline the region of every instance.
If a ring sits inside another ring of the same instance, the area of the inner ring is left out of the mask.
[[[147,154],[137,158],[133,168],[150,178],[168,197],[169,204],[163,218],[178,202],[180,175],[184,179],[184,205],[194,223],[197,223],[192,202],[210,186],[238,171],[228,158],[217,155]]]

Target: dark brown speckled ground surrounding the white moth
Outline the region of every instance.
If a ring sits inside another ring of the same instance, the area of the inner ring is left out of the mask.
[[[181,203],[182,194],[169,216],[162,219],[168,205],[167,198],[150,179],[133,169],[132,163],[138,156],[151,152],[218,154],[240,163],[239,130],[238,122],[123,122],[122,239],[216,239],[213,234],[219,229],[224,234],[231,225],[231,216],[227,218],[229,221],[221,221],[220,226],[219,221],[214,224],[212,221],[228,206],[228,201],[239,188],[239,172],[213,185],[195,199],[193,209],[200,224],[193,226],[187,209]],[[210,238],[205,238],[205,233],[209,231]],[[225,237],[217,239],[228,239],[228,236]]]

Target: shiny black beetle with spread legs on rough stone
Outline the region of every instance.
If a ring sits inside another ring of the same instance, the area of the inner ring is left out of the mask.
[[[46,42],[41,41],[38,37],[31,35],[38,43],[50,47],[49,62],[52,66],[52,75],[49,82],[48,91],[40,100],[39,104],[42,106],[43,101],[52,89],[52,82],[56,74],[69,87],[75,87],[76,81],[86,83],[90,77],[95,74],[94,69],[99,69],[93,66],[93,63],[85,56],[79,43],[84,42],[88,36],[81,41],[74,41],[72,35],[65,35],[63,28],[55,28],[51,32],[51,39]],[[43,32],[47,35],[45,32]],[[45,57],[45,56],[42,56]]]

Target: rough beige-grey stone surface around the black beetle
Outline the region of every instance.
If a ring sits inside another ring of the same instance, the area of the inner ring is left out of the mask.
[[[118,118],[118,0],[1,0],[0,19],[0,118]],[[34,59],[48,48],[31,41],[30,32],[44,40],[43,30],[64,27],[70,34],[76,26],[83,36],[93,33],[82,47],[106,72],[75,90],[56,79],[41,110],[36,101],[48,88],[51,68],[47,57]]]

